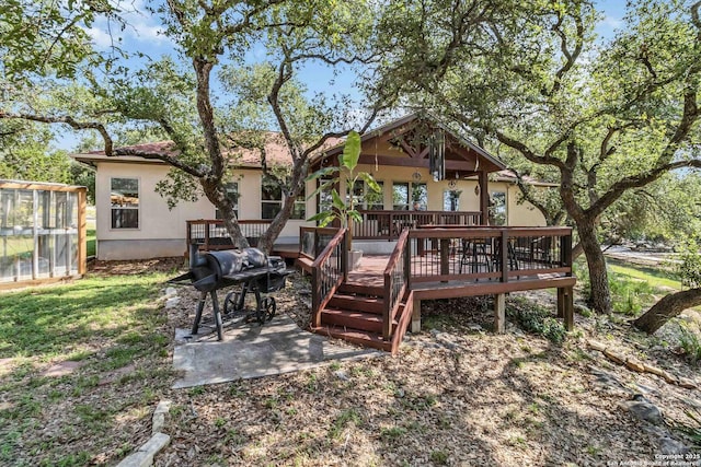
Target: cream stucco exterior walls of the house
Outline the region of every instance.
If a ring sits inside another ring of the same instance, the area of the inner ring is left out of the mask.
[[[414,173],[421,174],[418,183],[425,183],[428,190],[427,209],[444,209],[444,191],[449,187],[450,178],[434,182],[425,168],[384,166],[376,171],[372,165],[361,165],[360,171],[369,172],[378,182],[383,182],[383,199],[386,209],[392,209],[392,183],[415,183]],[[164,164],[136,164],[124,162],[100,162],[95,177],[96,189],[96,234],[97,258],[103,260],[145,259],[163,256],[181,256],[185,253],[186,221],[196,219],[215,219],[215,207],[206,199],[198,201],[181,201],[169,210],[165,199],[156,192],[156,185],[168,174]],[[139,180],[139,227],[112,229],[111,220],[111,179],[113,177],[137,178]],[[239,183],[239,218],[261,219],[260,170],[241,170],[234,174]],[[479,211],[480,199],[475,192],[474,180],[458,180],[453,189],[461,190],[459,209],[461,211]],[[307,184],[309,196],[315,189],[315,183]],[[490,191],[504,191],[507,205],[508,225],[544,225],[542,214],[529,203],[517,202],[518,188],[505,182],[490,183]],[[306,201],[307,215],[315,213],[315,199]],[[299,227],[313,223],[303,220],[289,220],[277,243],[297,243]]]

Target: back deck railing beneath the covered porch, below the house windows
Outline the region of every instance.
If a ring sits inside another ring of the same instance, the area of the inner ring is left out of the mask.
[[[479,211],[358,211],[363,222],[353,223],[353,238],[397,240],[405,227],[422,225],[479,225]]]

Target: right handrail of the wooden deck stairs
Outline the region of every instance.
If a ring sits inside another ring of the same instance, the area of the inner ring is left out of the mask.
[[[382,338],[392,338],[392,322],[406,292],[405,258],[409,229],[404,229],[384,268],[384,310],[382,311]]]

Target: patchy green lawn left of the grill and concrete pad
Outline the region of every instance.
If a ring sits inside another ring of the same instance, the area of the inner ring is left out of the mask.
[[[164,275],[0,293],[0,465],[115,464],[170,381]],[[65,375],[47,370],[79,365]]]

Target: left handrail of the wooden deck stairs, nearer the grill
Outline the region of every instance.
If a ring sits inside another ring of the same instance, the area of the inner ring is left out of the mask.
[[[311,265],[312,326],[321,326],[321,311],[343,283],[348,270],[346,252],[347,229],[338,229],[331,242]],[[336,254],[335,256],[333,254]],[[335,268],[332,258],[336,258]]]

